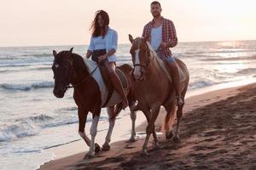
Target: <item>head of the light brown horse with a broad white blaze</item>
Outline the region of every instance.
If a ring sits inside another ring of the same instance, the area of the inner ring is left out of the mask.
[[[143,80],[150,62],[148,37],[137,37],[133,39],[129,34],[129,40],[131,42],[130,53],[132,56],[132,64],[134,66],[133,77],[136,80]]]

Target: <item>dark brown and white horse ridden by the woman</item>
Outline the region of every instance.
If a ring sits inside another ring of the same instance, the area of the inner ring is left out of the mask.
[[[90,150],[86,154],[86,156],[90,157],[95,155],[95,151],[100,150],[100,146],[95,144],[95,138],[97,124],[102,109],[102,91],[100,90],[95,77],[93,77],[97,68],[94,69],[94,71],[90,71],[88,65],[85,64],[84,59],[79,54],[73,54],[72,51],[73,48],[69,51],[61,51],[60,53],[57,53],[55,50],[53,51],[55,57],[52,65],[55,78],[55,88],[53,93],[55,94],[55,97],[62,98],[66,93],[69,84],[73,85],[73,99],[75,100],[76,105],[78,105],[79,135],[84,139],[85,143],[90,146]],[[118,68],[123,72],[126,80],[128,80],[127,99],[131,106],[135,101],[131,92],[131,82],[129,81],[129,73],[131,72],[132,67],[131,65],[121,65]],[[120,98],[116,100],[113,99],[113,104],[110,104],[107,107],[109,128],[105,143],[102,145],[102,150],[110,149],[109,142],[113,131],[115,116],[121,111],[121,101]],[[91,139],[84,133],[85,122],[89,111],[93,115],[93,122],[90,127]],[[131,119],[135,122],[136,113],[134,111],[131,111]],[[135,130],[133,127],[131,140],[134,140],[134,136]]]

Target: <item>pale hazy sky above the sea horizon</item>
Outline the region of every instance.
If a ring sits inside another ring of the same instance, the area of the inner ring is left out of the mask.
[[[142,35],[151,0],[0,0],[0,47],[83,45],[103,9],[119,43]],[[255,0],[161,0],[179,42],[256,40]]]

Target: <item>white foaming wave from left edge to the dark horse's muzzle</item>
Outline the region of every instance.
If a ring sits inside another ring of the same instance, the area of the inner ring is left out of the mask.
[[[28,91],[32,88],[54,88],[55,82],[34,82],[32,84],[9,84],[3,83],[0,84],[0,88],[5,90],[19,90],[19,91]]]

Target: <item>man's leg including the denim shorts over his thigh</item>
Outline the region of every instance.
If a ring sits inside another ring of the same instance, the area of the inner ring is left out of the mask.
[[[183,102],[183,98],[181,96],[180,78],[179,78],[177,62],[172,56],[167,57],[166,61],[167,61],[166,63],[168,64],[168,66],[171,70],[172,80],[173,80],[174,88],[176,91],[177,106],[182,107],[184,102]]]

